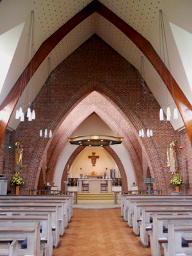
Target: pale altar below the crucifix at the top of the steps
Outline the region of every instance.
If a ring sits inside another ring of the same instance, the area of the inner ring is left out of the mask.
[[[77,180],[77,191],[88,192],[88,193],[100,193],[112,191],[112,179],[78,179]]]

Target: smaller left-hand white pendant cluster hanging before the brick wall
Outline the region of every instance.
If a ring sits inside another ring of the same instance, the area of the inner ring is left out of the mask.
[[[45,90],[47,92],[47,108],[46,108],[46,123],[48,124],[47,121],[47,115],[49,115],[49,120],[51,120],[51,58],[48,58],[47,61],[47,82],[45,83]],[[33,116],[33,113],[32,113]],[[47,126],[46,124],[46,126]],[[43,137],[43,130],[40,130],[40,137]],[[49,136],[48,136],[48,130],[45,128],[44,132],[44,138],[52,138],[52,131],[49,130]],[[81,141],[79,141],[80,143]]]

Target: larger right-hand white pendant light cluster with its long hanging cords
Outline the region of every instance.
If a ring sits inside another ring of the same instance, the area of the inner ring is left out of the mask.
[[[162,51],[161,51],[161,47],[162,47]],[[169,55],[168,55],[168,46],[167,46],[167,42],[166,42],[166,34],[165,34],[165,30],[164,30],[164,21],[163,21],[163,12],[162,10],[159,10],[159,55],[160,55],[160,58],[161,58],[161,53],[163,54],[161,60],[163,60],[164,62],[164,67],[166,66],[165,65],[165,60],[167,59],[167,62],[168,62],[168,69],[170,71],[170,81],[171,81],[171,84],[172,84],[172,95],[173,95],[173,106],[174,106],[174,111],[173,111],[173,118],[174,119],[178,119],[178,110],[176,108],[176,105],[175,105],[175,93],[174,93],[174,90],[173,90],[173,79],[172,79],[172,76],[171,76],[171,68],[170,68],[170,60],[169,60]],[[162,65],[160,65],[160,86],[162,87]],[[165,75],[165,85],[166,85],[166,120],[167,121],[170,121],[171,120],[171,116],[172,116],[172,113],[171,113],[171,109],[170,109],[170,104],[168,104],[168,88],[167,88],[167,73],[166,73],[166,69],[164,68],[164,75]],[[161,90],[162,92],[162,90]],[[161,99],[162,99],[162,95],[161,95]],[[160,106],[164,106],[161,102],[160,102]],[[160,108],[160,111],[159,111],[159,119],[161,121],[164,120],[164,116],[163,116],[163,108]]]

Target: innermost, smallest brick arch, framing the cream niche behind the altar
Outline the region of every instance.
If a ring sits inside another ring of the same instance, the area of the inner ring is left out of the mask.
[[[81,151],[84,149],[84,146],[79,146],[76,148],[76,150],[74,150],[74,152],[71,154],[71,156],[69,157],[67,163],[65,164],[65,167],[63,169],[63,175],[61,178],[61,190],[65,190],[65,183],[64,180],[67,180],[67,170],[68,167],[67,166],[71,166],[72,163],[74,162],[74,160],[76,159],[76,157],[79,155],[79,153],[81,153]],[[111,157],[113,157],[116,165],[118,166],[118,170],[120,172],[120,175],[122,177],[122,189],[123,190],[127,190],[128,186],[127,186],[127,175],[125,173],[125,169],[124,169],[124,165],[122,164],[122,161],[120,160],[120,158],[117,156],[116,152],[113,150],[113,148],[106,146],[104,147],[104,149],[111,155]]]

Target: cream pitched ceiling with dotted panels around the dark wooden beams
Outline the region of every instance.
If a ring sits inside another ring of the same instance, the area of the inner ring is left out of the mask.
[[[26,39],[29,28],[29,19],[31,10],[35,11],[35,51],[42,42],[49,38],[54,31],[60,28],[65,22],[74,17],[76,13],[82,10],[91,1],[88,0],[3,0],[0,3],[0,36],[6,31],[15,28],[22,22],[25,22],[24,29],[20,35],[13,60],[4,81],[3,90],[0,95],[0,103],[8,94],[15,81],[22,73],[24,66],[24,56]],[[168,50],[171,63],[171,72],[173,77],[179,83],[180,88],[185,93],[188,100],[192,102],[191,89],[186,77],[180,54],[175,44],[170,23],[192,34],[190,26],[192,16],[191,0],[100,0],[118,17],[127,22],[132,28],[143,35],[152,44],[159,53],[159,9],[163,10],[164,24],[168,41]],[[140,58],[143,54],[108,20],[101,17],[98,13],[93,13],[86,20],[81,22],[76,28],[68,33],[60,44],[51,52],[51,69],[56,68],[61,61],[65,60],[73,51],[77,49],[90,36],[96,33],[102,40],[109,44],[115,51],[121,54],[127,61],[140,71]],[[1,40],[1,37],[0,37]],[[190,63],[189,63],[190,65]],[[192,67],[191,67],[192,68]],[[143,77],[156,97],[159,104],[166,105],[166,87],[160,86],[159,76],[156,70],[144,56],[144,74]],[[35,95],[39,92],[45,83],[47,72],[47,60],[38,68],[35,74]],[[28,90],[28,88],[26,89]],[[25,93],[25,100],[28,103],[28,93]],[[168,93],[168,102],[172,104],[173,99]],[[165,106],[164,106],[165,108]],[[16,129],[19,122],[15,120],[15,113],[8,124],[10,129]],[[172,120],[174,129],[180,129],[183,126],[181,118],[177,121]]]

